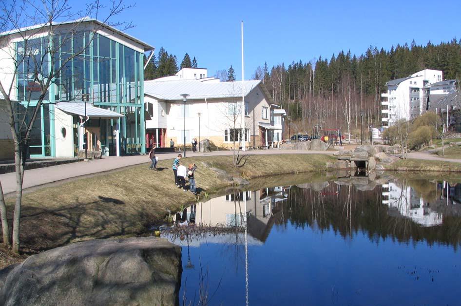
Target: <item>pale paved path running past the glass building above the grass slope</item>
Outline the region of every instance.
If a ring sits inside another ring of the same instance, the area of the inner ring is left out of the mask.
[[[298,150],[254,150],[247,151],[245,154],[332,154],[331,151],[298,151]],[[172,159],[178,153],[159,153],[159,160]],[[186,152],[187,157],[193,156],[216,156],[216,155],[232,155],[232,151],[218,151],[211,153],[192,153]],[[24,172],[23,189],[37,187],[44,184],[54,183],[58,181],[77,178],[100,172],[116,170],[128,166],[150,163],[147,155],[121,156],[121,157],[105,157],[103,159],[91,160],[88,162],[77,162],[72,164],[64,164],[58,166],[45,167],[40,169],[31,169]],[[0,181],[4,194],[16,191],[16,174],[6,173],[0,174]]]

